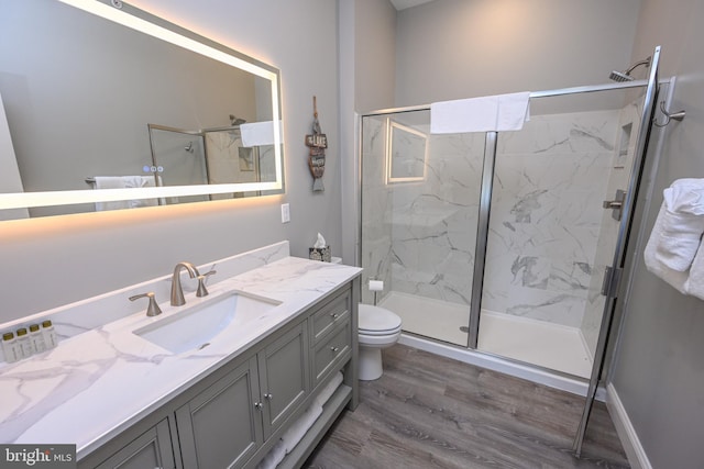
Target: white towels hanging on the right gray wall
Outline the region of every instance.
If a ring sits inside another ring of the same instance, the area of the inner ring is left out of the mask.
[[[646,246],[648,270],[684,294],[704,300],[704,179],[678,179],[663,202]]]

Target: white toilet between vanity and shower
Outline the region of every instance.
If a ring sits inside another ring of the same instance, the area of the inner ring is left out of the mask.
[[[400,337],[400,317],[371,304],[359,305],[360,379],[372,381],[382,376],[382,348],[391,347]]]

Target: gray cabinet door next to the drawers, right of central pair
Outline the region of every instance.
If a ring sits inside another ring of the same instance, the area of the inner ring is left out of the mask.
[[[264,438],[296,410],[310,390],[306,322],[258,353]]]

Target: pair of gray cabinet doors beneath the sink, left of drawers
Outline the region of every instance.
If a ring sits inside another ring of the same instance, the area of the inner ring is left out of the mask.
[[[185,468],[242,467],[309,391],[306,322],[176,411]]]

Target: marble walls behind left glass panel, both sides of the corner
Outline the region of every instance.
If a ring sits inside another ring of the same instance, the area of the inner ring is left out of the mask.
[[[429,135],[429,112],[411,114],[391,118]],[[429,135],[425,179],[387,183],[386,118],[364,118],[362,133],[363,284],[469,305],[485,135]]]

